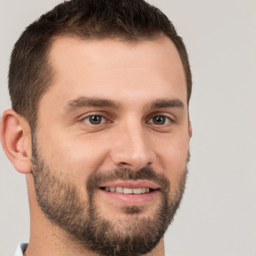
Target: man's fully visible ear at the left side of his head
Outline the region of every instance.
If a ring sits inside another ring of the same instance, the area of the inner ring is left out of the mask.
[[[3,150],[14,168],[21,173],[31,172],[31,132],[27,121],[13,109],[5,110],[0,135]]]

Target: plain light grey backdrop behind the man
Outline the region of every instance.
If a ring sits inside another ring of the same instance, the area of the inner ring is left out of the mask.
[[[60,0],[0,0],[0,114],[8,59],[25,26]],[[150,0],[190,57],[193,136],[187,189],[166,254],[256,256],[256,1]],[[29,238],[24,175],[0,149],[0,256]]]

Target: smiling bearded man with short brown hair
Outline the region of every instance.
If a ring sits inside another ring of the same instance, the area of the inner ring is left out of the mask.
[[[12,51],[1,142],[26,174],[30,240],[15,255],[164,255],[185,187],[191,73],[143,0],[70,0]]]

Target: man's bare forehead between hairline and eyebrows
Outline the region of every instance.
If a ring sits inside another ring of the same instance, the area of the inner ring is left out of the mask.
[[[183,66],[166,36],[138,42],[56,37],[49,57],[55,80],[42,99],[52,94],[62,104],[79,96],[118,101],[140,93],[148,99],[180,98],[186,104]]]

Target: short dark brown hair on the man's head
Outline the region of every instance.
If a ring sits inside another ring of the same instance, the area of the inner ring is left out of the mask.
[[[188,104],[192,81],[187,52],[165,14],[144,0],[69,0],[31,23],[15,43],[8,76],[12,108],[35,128],[38,102],[54,77],[48,61],[53,36],[139,41],[153,40],[160,34],[169,37],[177,48],[186,76]]]

